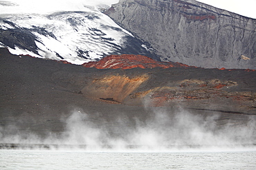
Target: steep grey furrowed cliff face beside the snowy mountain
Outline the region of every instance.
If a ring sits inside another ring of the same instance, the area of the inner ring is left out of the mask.
[[[120,0],[106,14],[162,61],[256,68],[256,20],[194,0]]]

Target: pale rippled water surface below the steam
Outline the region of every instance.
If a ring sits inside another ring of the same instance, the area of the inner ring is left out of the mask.
[[[0,150],[0,169],[255,169],[256,151]]]

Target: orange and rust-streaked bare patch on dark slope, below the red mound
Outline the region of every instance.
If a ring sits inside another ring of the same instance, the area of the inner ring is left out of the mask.
[[[201,68],[189,68],[184,72],[181,68],[170,68],[166,72],[162,70],[163,76],[157,78],[158,71],[146,70],[131,75],[127,74],[130,72],[127,70],[125,74],[112,72],[98,75],[88,81],[81,93],[87,98],[123,105],[179,106],[222,113],[255,114],[255,88],[251,83],[245,85],[241,81],[242,77],[255,76],[255,72]],[[200,78],[199,72],[205,72],[207,76]],[[176,76],[172,77],[172,74]],[[188,79],[185,74],[192,78]],[[235,78],[235,74],[241,78]],[[230,79],[226,80],[225,76]]]

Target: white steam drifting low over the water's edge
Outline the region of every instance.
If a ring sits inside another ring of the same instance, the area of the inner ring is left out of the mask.
[[[135,126],[129,126],[122,118],[116,118],[113,126],[111,123],[93,123],[86,113],[75,110],[64,120],[66,129],[62,134],[48,134],[42,138],[9,125],[0,127],[0,143],[147,151],[255,145],[256,126],[253,119],[245,125],[228,123],[219,126],[217,116],[199,116],[184,110],[176,113],[157,110],[152,115],[146,121],[135,120]]]

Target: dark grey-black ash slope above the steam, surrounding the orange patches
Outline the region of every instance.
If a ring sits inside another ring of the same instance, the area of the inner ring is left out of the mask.
[[[234,126],[246,125],[248,120],[255,119],[256,115],[253,106],[244,107],[243,111],[237,111],[237,109],[232,110],[232,107],[237,108],[237,106],[230,106],[230,103],[227,103],[226,107],[223,103],[221,110],[205,108],[205,104],[201,102],[193,104],[192,109],[189,108],[191,106],[189,103],[165,107],[145,107],[141,101],[134,102],[133,105],[113,104],[81,93],[86,85],[90,85],[93,80],[104,76],[134,77],[142,74],[149,74],[151,78],[143,83],[136,92],[167,86],[174,81],[189,78],[198,78],[202,81],[219,78],[239,83],[239,86],[231,89],[233,92],[255,93],[255,72],[246,72],[245,70],[234,72],[197,68],[97,70],[29,56],[20,58],[10,54],[5,48],[0,48],[0,64],[1,129],[15,125],[19,131],[33,131],[41,136],[45,136],[49,131],[60,134],[66,126],[63,120],[71,116],[74,109],[84,111],[88,116],[87,120],[93,122],[96,127],[104,125],[111,131],[109,134],[113,136],[120,135],[120,131],[116,131],[116,127],[120,129],[134,128],[138,120],[147,122],[152,118],[154,111],[151,110],[156,109],[166,109],[172,115],[185,106],[187,107],[185,110],[195,115],[217,115],[219,117],[216,125],[219,127],[227,123],[233,123]],[[255,103],[255,99],[252,100]],[[212,102],[214,104],[214,101]],[[120,118],[123,118],[122,124],[118,123]],[[3,137],[5,135],[8,134],[2,133]]]

